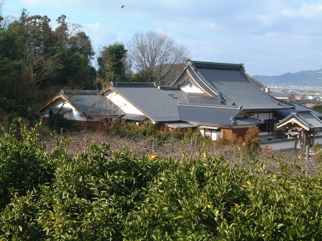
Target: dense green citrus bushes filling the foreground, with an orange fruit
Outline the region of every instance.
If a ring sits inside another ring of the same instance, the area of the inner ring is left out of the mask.
[[[46,152],[38,126],[0,138],[0,240],[322,240],[321,172],[281,155],[278,172],[107,143],[72,157],[65,139]]]

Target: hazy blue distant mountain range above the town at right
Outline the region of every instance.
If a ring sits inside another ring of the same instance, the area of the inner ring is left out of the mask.
[[[253,78],[259,80],[265,85],[297,85],[297,86],[322,86],[322,69],[306,70],[297,73],[286,73],[278,76],[254,75]]]

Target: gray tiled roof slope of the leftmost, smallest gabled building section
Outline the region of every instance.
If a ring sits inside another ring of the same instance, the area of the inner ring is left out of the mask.
[[[95,90],[62,90],[60,94],[87,117],[125,114],[117,105]]]

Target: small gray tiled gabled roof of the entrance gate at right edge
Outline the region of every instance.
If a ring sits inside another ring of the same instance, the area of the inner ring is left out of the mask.
[[[290,115],[280,120],[276,125],[280,125],[292,118],[295,118],[310,129],[322,128],[322,121],[313,114],[313,112],[292,112]]]

